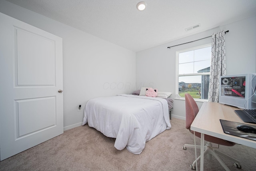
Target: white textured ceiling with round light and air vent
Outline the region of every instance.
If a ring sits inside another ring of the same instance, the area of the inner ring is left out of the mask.
[[[7,1],[134,52],[256,15],[256,0]]]

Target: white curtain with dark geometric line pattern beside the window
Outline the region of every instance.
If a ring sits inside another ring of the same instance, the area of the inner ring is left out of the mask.
[[[219,79],[226,76],[225,32],[221,30],[212,34],[212,60],[210,67],[209,101],[219,101]]]

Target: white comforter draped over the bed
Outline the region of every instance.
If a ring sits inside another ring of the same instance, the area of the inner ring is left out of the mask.
[[[107,137],[116,138],[114,147],[140,154],[146,141],[171,128],[165,99],[121,94],[90,99],[82,125],[88,122]]]

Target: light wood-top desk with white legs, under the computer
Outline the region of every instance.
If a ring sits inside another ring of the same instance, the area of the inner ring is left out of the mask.
[[[191,130],[201,133],[201,171],[204,170],[204,134],[256,148],[256,141],[236,137],[234,135],[228,135],[223,132],[220,119],[244,123],[240,117],[236,115],[234,110],[237,110],[237,108],[222,105],[220,103],[204,102],[196,115],[196,118],[191,124]]]

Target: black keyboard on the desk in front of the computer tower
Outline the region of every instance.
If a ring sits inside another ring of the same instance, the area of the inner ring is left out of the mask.
[[[256,109],[235,110],[236,114],[247,123],[256,123]]]

